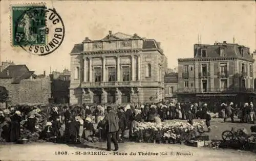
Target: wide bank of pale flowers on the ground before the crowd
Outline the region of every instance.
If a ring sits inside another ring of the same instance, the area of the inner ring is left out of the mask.
[[[135,127],[135,136],[138,140],[147,142],[165,141],[182,143],[199,136],[203,131],[204,123],[195,122],[194,125],[184,122],[162,122],[160,124],[141,122]]]

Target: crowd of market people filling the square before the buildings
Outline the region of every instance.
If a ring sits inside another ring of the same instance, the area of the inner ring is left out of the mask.
[[[241,122],[248,123],[255,120],[255,108],[245,103],[238,108],[232,102],[220,104],[219,117],[231,118],[241,111]],[[39,138],[53,139],[56,142],[79,143],[90,137],[106,139],[110,149],[111,138],[118,149],[117,142],[124,141],[125,130],[129,129],[129,138],[133,137],[134,127],[139,122],[156,122],[164,120],[183,119],[193,124],[194,119],[205,119],[208,132],[210,131],[211,115],[206,103],[199,106],[197,103],[146,103],[142,105],[88,106],[64,105],[48,106],[12,106],[0,110],[0,138],[7,142],[16,142],[20,137],[21,124],[31,132],[40,130]],[[40,121],[39,121],[40,120]],[[22,123],[23,122],[23,123]],[[62,132],[61,129],[63,128]]]

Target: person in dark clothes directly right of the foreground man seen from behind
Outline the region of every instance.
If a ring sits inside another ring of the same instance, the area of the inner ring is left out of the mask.
[[[124,110],[122,107],[118,108],[117,116],[119,119],[119,131],[117,135],[118,142],[123,142],[124,130],[127,127],[127,119],[124,115]],[[121,134],[121,138],[119,135]]]

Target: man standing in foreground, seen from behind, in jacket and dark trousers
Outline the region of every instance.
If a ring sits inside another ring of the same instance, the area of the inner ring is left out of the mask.
[[[107,150],[111,151],[111,137],[112,140],[114,142],[115,145],[115,150],[118,150],[118,143],[117,143],[117,131],[119,130],[119,119],[117,114],[115,114],[112,111],[111,106],[108,106],[106,108],[106,111],[108,112],[108,114],[106,114],[106,116],[104,117],[104,119],[102,120],[105,123],[105,127],[106,127],[106,146],[107,146]]]

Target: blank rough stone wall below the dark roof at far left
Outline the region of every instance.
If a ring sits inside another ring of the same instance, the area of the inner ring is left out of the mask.
[[[12,84],[12,79],[0,79],[0,85],[9,91],[8,105],[46,104],[51,97],[50,78],[24,79]]]

